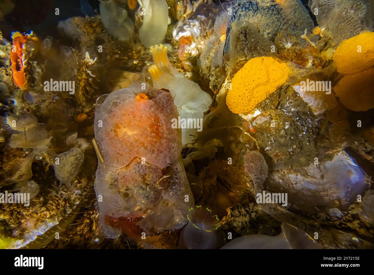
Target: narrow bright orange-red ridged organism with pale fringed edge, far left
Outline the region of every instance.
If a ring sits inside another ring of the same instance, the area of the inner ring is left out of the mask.
[[[26,77],[25,77],[25,59],[22,50],[22,45],[27,40],[27,34],[22,35],[21,33],[13,33],[13,46],[10,52],[10,61],[12,62],[11,70],[13,75],[14,83],[22,90],[26,89]]]

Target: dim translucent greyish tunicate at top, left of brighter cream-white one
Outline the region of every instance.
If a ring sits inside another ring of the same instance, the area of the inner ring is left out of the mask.
[[[126,9],[114,1],[100,2],[100,18],[110,35],[119,40],[128,40],[134,34],[134,22],[128,17]]]

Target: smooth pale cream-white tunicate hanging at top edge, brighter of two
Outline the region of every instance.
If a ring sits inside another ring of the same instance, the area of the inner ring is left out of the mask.
[[[139,38],[145,47],[162,43],[168,29],[169,9],[166,0],[143,0],[143,25]]]

